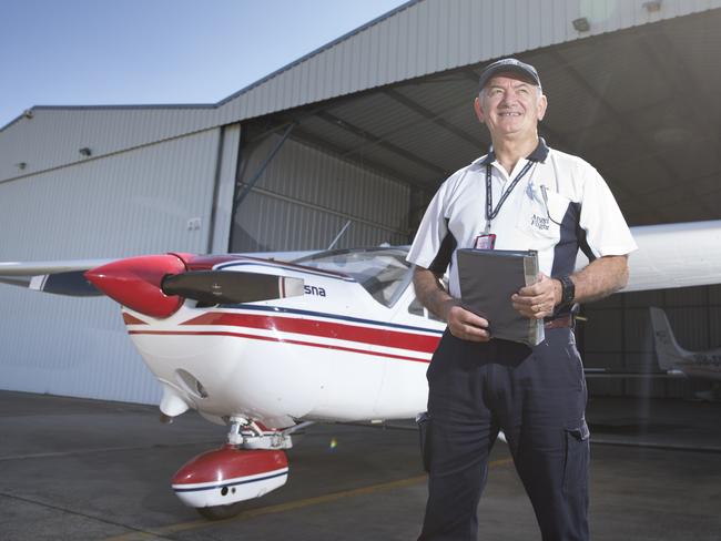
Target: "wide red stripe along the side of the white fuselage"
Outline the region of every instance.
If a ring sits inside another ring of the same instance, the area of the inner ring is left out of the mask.
[[[250,327],[254,329],[280,330],[299,335],[321,336],[337,340],[360,341],[374,346],[395,347],[431,354],[438,346],[438,336],[416,335],[400,330],[359,327],[318,319],[299,319],[266,314],[203,314],[182,325],[219,325],[225,327]]]

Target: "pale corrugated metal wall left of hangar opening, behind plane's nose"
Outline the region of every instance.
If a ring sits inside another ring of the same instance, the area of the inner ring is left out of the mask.
[[[224,137],[233,152],[237,132]],[[213,129],[0,183],[0,261],[205,252],[214,182],[235,171],[233,156],[219,170],[220,140]],[[114,303],[0,285],[0,388],[159,399]]]

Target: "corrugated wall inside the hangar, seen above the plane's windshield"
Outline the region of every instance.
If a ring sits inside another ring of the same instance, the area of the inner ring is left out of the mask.
[[[277,141],[241,151],[244,182]],[[348,221],[336,247],[405,244],[409,201],[407,185],[288,139],[240,205],[231,249],[325,248]]]

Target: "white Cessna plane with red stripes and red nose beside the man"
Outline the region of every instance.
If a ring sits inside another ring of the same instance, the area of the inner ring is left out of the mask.
[[[640,249],[627,290],[721,282],[721,221],[632,232]],[[102,293],[121,305],[131,340],[162,386],[162,415],[195,409],[230,427],[223,447],[172,479],[184,503],[216,519],[285,483],[284,449],[306,423],[425,410],[426,368],[445,324],[416,300],[406,252],[343,249],[292,262],[233,254],[16,262],[0,264],[0,282]]]

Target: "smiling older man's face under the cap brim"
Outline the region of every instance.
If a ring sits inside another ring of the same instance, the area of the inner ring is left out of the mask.
[[[524,136],[536,133],[546,104],[538,86],[512,73],[501,73],[488,81],[474,105],[491,136]]]

